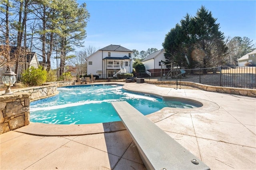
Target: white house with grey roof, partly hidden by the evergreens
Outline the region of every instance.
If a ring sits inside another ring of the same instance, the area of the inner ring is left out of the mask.
[[[165,53],[165,49],[163,48],[148,55],[144,60],[142,60],[142,63],[146,67],[146,71],[149,71],[152,77],[160,76],[161,68],[167,69],[165,65],[162,65],[163,64],[162,61],[166,60],[164,57],[164,53]]]

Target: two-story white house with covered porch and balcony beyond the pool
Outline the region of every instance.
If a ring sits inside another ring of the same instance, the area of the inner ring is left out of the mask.
[[[90,55],[87,61],[87,75],[99,78],[115,77],[118,73],[132,73],[133,51],[120,45],[108,45]]]

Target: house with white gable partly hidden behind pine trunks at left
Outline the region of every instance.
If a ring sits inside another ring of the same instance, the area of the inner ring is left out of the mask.
[[[15,53],[15,50],[17,49],[17,47],[11,47],[10,50],[10,58],[12,60],[11,62],[11,69],[14,72],[15,71],[15,67],[16,67],[16,61],[13,58],[13,55]],[[26,51],[26,57],[24,57],[24,55],[20,56],[20,61],[18,63],[18,72],[17,75],[20,76],[22,71],[28,69],[31,66],[34,66],[35,68],[38,68],[39,62],[38,62],[38,58],[35,52],[29,52],[28,50]],[[7,67],[0,67],[0,75],[2,75],[3,73],[5,73]]]

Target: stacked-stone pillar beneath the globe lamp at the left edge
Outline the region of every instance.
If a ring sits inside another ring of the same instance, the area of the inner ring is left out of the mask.
[[[0,134],[29,124],[30,94],[0,95]]]

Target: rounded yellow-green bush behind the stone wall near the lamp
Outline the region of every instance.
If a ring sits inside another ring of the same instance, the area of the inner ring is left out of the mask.
[[[28,86],[39,86],[46,82],[47,71],[40,65],[36,69],[35,67],[29,67],[24,73],[22,73],[22,83]]]

